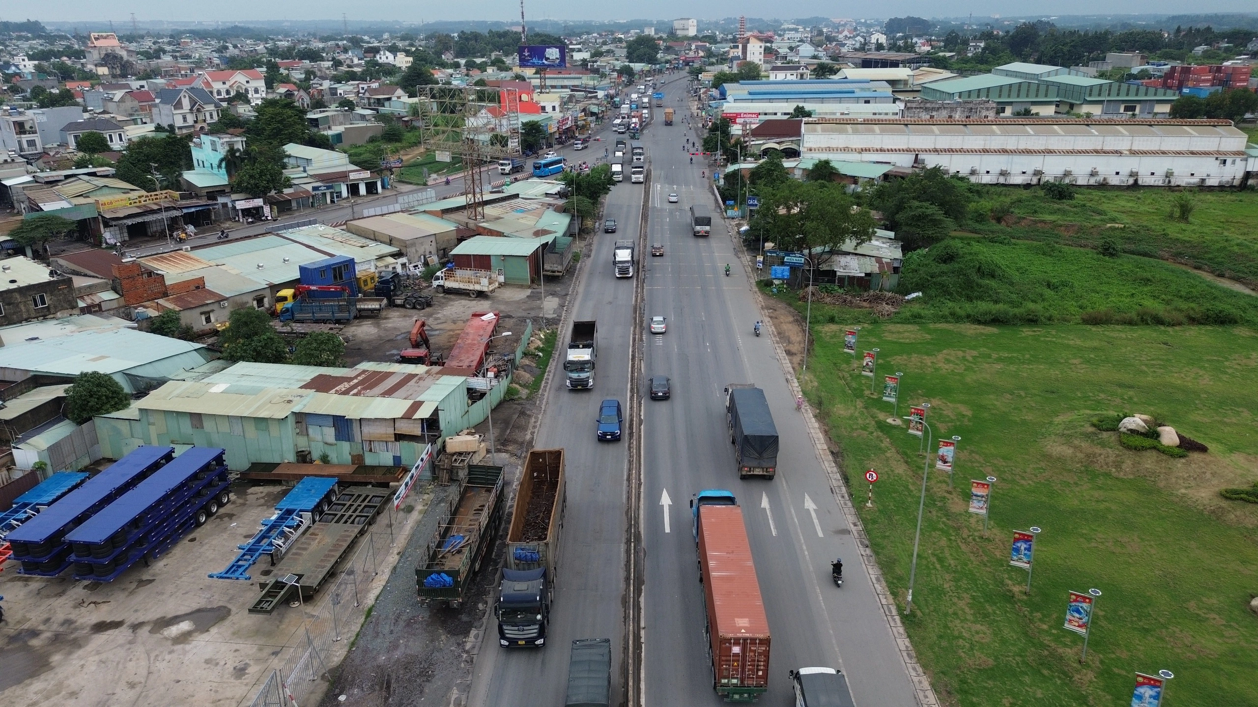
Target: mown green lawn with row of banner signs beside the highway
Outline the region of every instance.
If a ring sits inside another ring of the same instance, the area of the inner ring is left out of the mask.
[[[805,387],[845,473],[874,468],[874,508],[852,484],[903,609],[923,458],[842,350],[843,320],[813,308]],[[819,318],[820,317],[820,318]],[[1258,479],[1258,333],[1244,327],[864,325],[879,374],[903,371],[899,413],[960,435],[956,478],[932,469],[913,613],[905,624],[946,704],[1126,706],[1133,673],[1176,674],[1169,707],[1258,704],[1258,506],[1223,487]],[[881,389],[881,387],[879,387]],[[1138,411],[1210,447],[1130,452],[1088,420]],[[966,512],[969,479],[999,478],[991,525]],[[1044,528],[1033,591],[1009,566],[1014,530]],[[1098,587],[1084,665],[1062,628],[1067,590]]]

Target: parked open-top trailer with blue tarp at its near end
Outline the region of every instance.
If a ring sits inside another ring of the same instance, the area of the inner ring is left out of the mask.
[[[415,567],[419,601],[458,609],[502,523],[502,467],[468,464],[463,492],[437,525]]]

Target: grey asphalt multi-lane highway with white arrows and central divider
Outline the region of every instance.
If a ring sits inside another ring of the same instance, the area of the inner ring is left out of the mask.
[[[704,642],[704,606],[688,501],[703,488],[726,488],[740,499],[756,574],[772,634],[769,693],[761,704],[791,702],[789,669],[829,665],[848,673],[860,706],[916,704],[913,684],[864,572],[850,528],[830,492],[818,453],[794,408],[794,396],[769,336],[755,337],[762,315],[745,269],[738,263],[723,220],[713,218],[712,237],[691,234],[691,204],[716,208],[703,160],[689,162],[682,150],[688,136],[686,82],[669,77],[665,106],[677,109],[664,126],[663,109],[643,132],[650,166],[649,194],[628,181],[616,185],[606,218],[620,233],[598,235],[593,260],[584,263],[575,311],[565,320],[598,320],[599,359],[593,392],[564,389],[556,369],[535,447],[564,447],[567,453],[567,513],[560,554],[550,647],[504,650],[496,645],[492,620],[473,669],[469,703],[476,707],[561,704],[566,689],[569,642],[611,638],[615,649],[613,689],[624,688],[619,672],[626,648],[625,482],[626,445],[640,445],[645,587],[642,598],[644,652],[639,676],[647,706],[720,704],[712,689]],[[610,136],[604,132],[604,143]],[[628,177],[625,177],[628,180]],[[708,177],[711,179],[711,177]],[[679,195],[669,204],[667,195]],[[649,199],[647,244],[662,243],[663,257],[649,249],[633,281],[611,273],[611,242],[635,238],[642,199]],[[725,264],[732,274],[723,274]],[[668,318],[668,332],[647,333],[634,321],[633,287],[642,279],[644,316]],[[560,333],[557,351],[566,340]],[[640,361],[629,361],[630,340],[643,342]],[[561,355],[561,353],[557,353]],[[556,366],[559,362],[556,362]],[[630,399],[630,365],[642,380],[672,379],[672,399],[652,401],[639,391],[643,420],[638,439],[599,443],[594,416],[603,398]],[[779,473],[772,481],[738,481],[726,431],[722,389],[754,382],[765,390],[781,438]],[[665,498],[667,493],[667,498]],[[847,579],[838,589],[829,561],[844,557]]]

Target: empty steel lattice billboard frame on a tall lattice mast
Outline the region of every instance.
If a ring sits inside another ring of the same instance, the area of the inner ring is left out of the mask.
[[[477,86],[419,87],[420,142],[458,156],[467,218],[484,219],[482,166],[520,155],[520,92]]]

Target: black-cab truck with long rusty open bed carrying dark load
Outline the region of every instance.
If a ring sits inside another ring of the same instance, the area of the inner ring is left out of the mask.
[[[564,450],[530,450],[507,530],[507,561],[494,608],[502,647],[546,645],[566,501]]]

